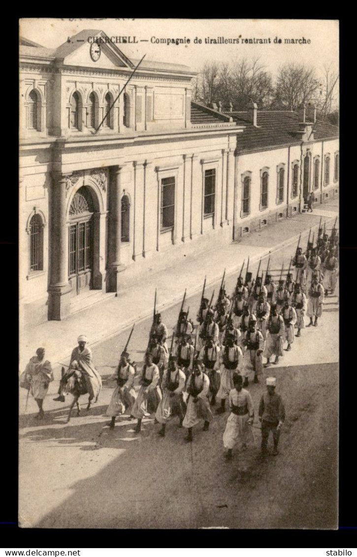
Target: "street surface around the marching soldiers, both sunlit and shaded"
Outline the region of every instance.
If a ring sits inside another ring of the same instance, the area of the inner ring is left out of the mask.
[[[319,223],[319,210],[334,221],[335,203],[316,208],[305,223],[302,245],[306,247],[311,226]],[[295,220],[295,219],[292,219]],[[296,221],[299,222],[299,221]],[[329,220],[330,222],[330,220]],[[308,225],[306,226],[306,223]],[[267,232],[266,229],[264,232]],[[299,234],[299,227],[297,227]],[[252,234],[241,252],[259,254],[272,246],[268,236]],[[276,242],[277,243],[277,242]],[[270,268],[288,263],[296,245],[288,243],[272,250]],[[268,250],[269,251],[269,250]],[[267,254],[266,254],[267,255]],[[207,257],[207,256],[206,256]],[[251,256],[252,259],[252,256]],[[239,263],[239,267],[241,263]],[[267,257],[262,261],[266,270]],[[198,259],[196,265],[200,265]],[[228,266],[228,265],[227,265]],[[257,270],[257,260],[250,269]],[[204,273],[202,272],[202,282]],[[221,270],[216,269],[218,277]],[[223,273],[223,268],[222,268]],[[231,293],[237,273],[227,276],[226,290]],[[172,273],[172,282],[175,274]],[[208,280],[207,297],[218,294],[219,281]],[[182,276],[179,291],[184,292]],[[198,285],[199,286],[199,285]],[[195,322],[200,292],[187,297],[190,317]],[[260,424],[258,404],[265,390],[263,380],[250,385],[256,418],[253,424],[255,446],[245,452],[233,449],[232,462],[223,458],[222,434],[228,412],[215,416],[208,432],[202,425],[194,428],[194,441],[186,444],[186,431],[177,427],[175,418],[167,426],[167,436],[157,435],[153,419],[143,421],[141,434],[133,432],[128,416],[117,418],[113,431],[107,427],[107,404],[113,393],[114,372],[128,329],[120,333],[104,330],[92,344],[94,364],[104,383],[100,399],[86,414],[83,397],[82,416],[66,424],[69,403],[53,402],[58,388],[58,365],[44,402],[46,419],[37,422],[35,400],[28,400],[20,389],[19,447],[19,522],[37,527],[110,527],[110,528],[199,528],[227,526],[236,528],[332,528],[336,525],[338,454],[338,292],[328,296],[317,328],[302,331],[280,364],[265,370],[277,377],[277,392],[286,405],[287,419],[281,434],[280,455],[259,457]],[[215,295],[215,299],[216,299]],[[151,293],[149,298],[151,299]],[[148,298],[148,299],[149,299]],[[131,307],[133,308],[133,298]],[[114,299],[112,299],[114,300]],[[105,302],[108,303],[108,302]],[[139,302],[138,302],[139,304]],[[139,304],[140,305],[140,304]],[[152,306],[152,302],[151,302]],[[152,307],[148,304],[148,312]],[[168,304],[169,306],[169,304]],[[169,331],[177,320],[180,302],[162,309]],[[89,310],[86,310],[89,312]],[[99,308],[96,307],[96,311]],[[83,312],[82,312],[83,314]],[[72,334],[85,333],[83,316]],[[74,319],[75,321],[75,319]],[[306,318],[306,323],[308,319]],[[92,326],[92,323],[91,323]],[[141,366],[151,319],[136,324],[130,341],[131,359]],[[33,333],[35,335],[35,333]],[[65,333],[66,334],[66,333]],[[56,338],[49,339],[55,343]],[[37,346],[35,346],[37,348]],[[66,356],[66,354],[63,354]],[[50,354],[46,357],[50,358]],[[135,423],[135,422],[134,422]],[[271,447],[270,447],[271,449]],[[95,503],[95,504],[94,504]]]

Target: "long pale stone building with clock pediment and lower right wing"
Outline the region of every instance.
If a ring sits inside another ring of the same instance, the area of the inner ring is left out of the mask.
[[[60,320],[179,254],[338,193],[338,130],[192,102],[188,67],[129,60],[102,31],[21,40],[21,320]],[[124,90],[119,96],[121,89]]]

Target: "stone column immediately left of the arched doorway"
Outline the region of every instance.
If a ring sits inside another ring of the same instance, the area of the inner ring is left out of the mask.
[[[51,188],[51,275],[48,286],[48,320],[61,321],[70,313],[66,182],[68,175],[53,174]]]

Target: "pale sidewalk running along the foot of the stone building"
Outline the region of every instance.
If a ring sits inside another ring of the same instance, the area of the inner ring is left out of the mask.
[[[69,362],[78,335],[85,334],[93,346],[115,336],[134,322],[143,321],[152,315],[155,288],[157,311],[161,311],[181,301],[185,288],[187,297],[201,291],[205,275],[206,287],[209,287],[222,279],[224,268],[226,276],[239,272],[243,260],[246,268],[248,256],[250,270],[256,270],[260,258],[267,257],[290,244],[294,245],[300,232],[301,245],[305,248],[310,228],[311,234],[315,232],[315,238],[317,236],[320,216],[322,223],[326,221],[326,229],[331,228],[338,216],[336,200],[331,200],[330,206],[316,206],[313,213],[299,213],[293,218],[253,232],[241,242],[212,247],[209,252],[188,257],[184,262],[165,271],[148,271],[144,284],[134,284],[119,292],[118,297],[110,297],[64,321],[47,321],[30,330],[20,329],[19,369],[22,371],[25,368],[38,346],[43,346],[47,353],[51,354],[53,367],[56,367],[60,362]],[[293,252],[294,247],[291,248],[291,253]]]

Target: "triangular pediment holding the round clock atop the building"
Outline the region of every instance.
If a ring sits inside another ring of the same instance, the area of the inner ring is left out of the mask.
[[[95,39],[99,39],[97,42]],[[134,67],[131,60],[121,52],[118,46],[108,41],[104,31],[84,30],[73,37],[69,37],[63,45],[57,48],[56,58],[62,60],[63,65],[85,66],[96,69],[118,69]],[[107,41],[107,42],[105,42]],[[95,43],[100,47],[100,56],[97,60],[91,57],[91,45]]]

